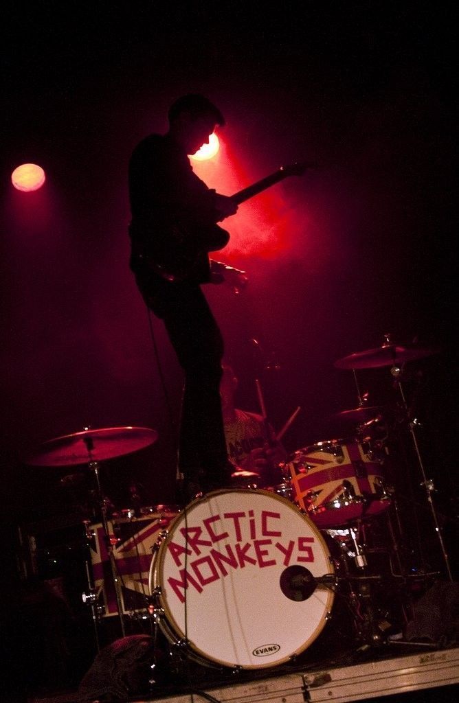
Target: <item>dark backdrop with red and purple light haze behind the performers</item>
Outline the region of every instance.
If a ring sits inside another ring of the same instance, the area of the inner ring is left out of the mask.
[[[258,378],[277,430],[301,406],[288,451],[353,437],[355,426],[333,415],[357,406],[356,383],[334,362],[379,347],[386,333],[418,342],[429,353],[406,365],[403,383],[452,546],[453,5],[19,2],[2,14],[4,523],[81,517],[92,479],[84,468],[82,482],[77,471],[65,487],[73,470],[23,457],[85,426],[157,430],[153,446],[106,463],[103,481],[118,508],[133,479],[145,505],[174,501],[182,375],[153,320],[158,366],[128,269],[127,162],[140,138],[165,131],[175,98],[202,92],[227,120],[210,187],[230,194],[284,163],[318,165],[227,221],[232,243],[218,258],[247,271],[249,285],[240,295],[206,291],[239,375],[239,406],[259,410]],[[11,186],[21,162],[44,167],[37,193]],[[361,370],[358,383],[370,405],[386,408],[390,478],[402,512],[417,505],[427,516],[420,539],[441,568],[390,368]]]

